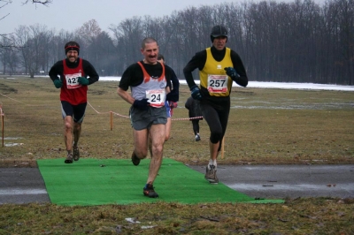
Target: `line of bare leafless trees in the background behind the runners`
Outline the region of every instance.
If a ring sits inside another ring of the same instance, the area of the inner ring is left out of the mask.
[[[0,38],[0,71],[48,74],[65,57],[65,42],[73,40],[81,45],[80,57],[100,76],[120,76],[142,59],[142,39],[151,36],[166,63],[184,79],[183,67],[212,45],[211,30],[218,24],[227,27],[227,47],[242,57],[249,80],[354,85],[354,0],[188,7],[160,18],[125,19],[107,31],[95,19],[73,32],[41,24],[19,26]]]

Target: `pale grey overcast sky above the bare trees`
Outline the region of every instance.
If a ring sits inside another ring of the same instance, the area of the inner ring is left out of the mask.
[[[294,2],[292,0],[277,0]],[[320,3],[325,0],[315,0]],[[53,0],[48,7],[41,4],[22,5],[24,0],[12,0],[3,8],[0,2],[0,34],[13,33],[20,25],[46,25],[48,29],[65,29],[72,32],[90,19],[96,19],[102,30],[109,32],[111,24],[118,25],[124,19],[150,15],[162,17],[173,11],[181,11],[190,6],[215,5],[221,3],[244,3],[245,0]],[[259,2],[259,1],[253,1]],[[8,16],[6,16],[9,14]],[[2,19],[6,16],[4,19]]]

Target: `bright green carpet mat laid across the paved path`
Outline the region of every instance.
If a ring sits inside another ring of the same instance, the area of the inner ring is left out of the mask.
[[[282,203],[283,200],[254,200],[224,184],[211,185],[204,174],[183,163],[164,158],[154,182],[158,199],[143,196],[150,159],[135,166],[130,159],[86,159],[65,164],[64,158],[37,161],[50,201],[58,205],[104,205],[142,202]]]

